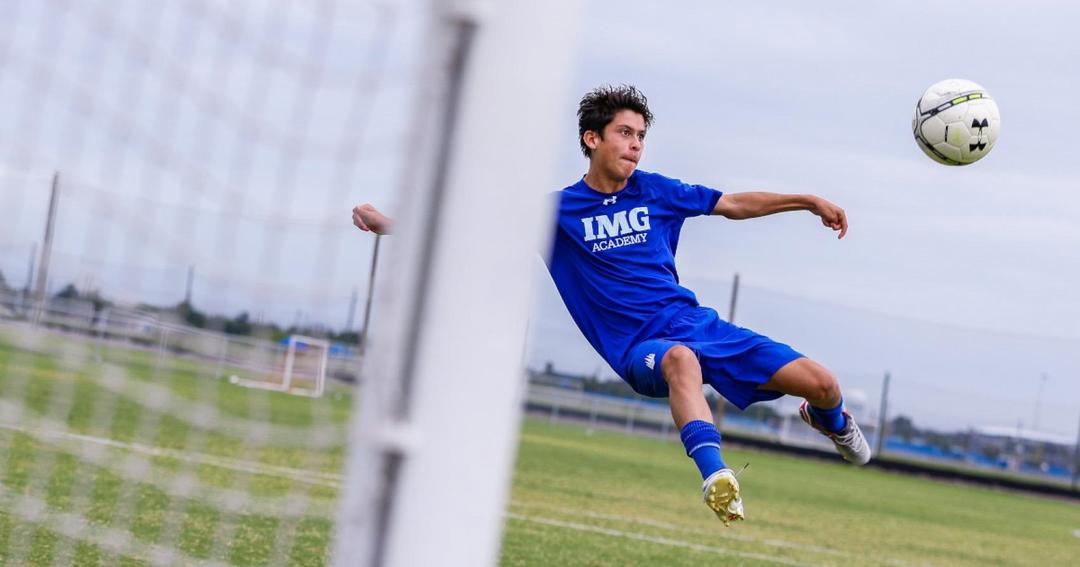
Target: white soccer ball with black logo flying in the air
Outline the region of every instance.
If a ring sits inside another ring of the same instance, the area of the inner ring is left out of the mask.
[[[968,165],[994,148],[1001,130],[998,105],[982,86],[963,79],[934,83],[915,105],[912,131],[930,159]]]

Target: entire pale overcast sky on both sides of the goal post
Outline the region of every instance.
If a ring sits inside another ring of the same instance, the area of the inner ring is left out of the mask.
[[[346,325],[373,245],[349,208],[409,206],[395,195],[415,3],[9,4],[0,273],[25,283],[60,171],[54,289],[177,302],[193,267],[197,306]],[[870,411],[889,373],[890,413],[917,423],[1075,438],[1080,6],[605,0],[580,17],[550,117],[565,122],[556,177],[588,165],[581,94],[632,83],[657,117],[643,170],[848,213],[842,241],[808,214],[688,221],[678,269],[704,305],[726,315],[738,272],[735,322],[833,368]],[[947,78],[982,84],[1001,111],[997,146],[966,167],[912,138],[916,99]],[[528,364],[613,376],[536,264]]]

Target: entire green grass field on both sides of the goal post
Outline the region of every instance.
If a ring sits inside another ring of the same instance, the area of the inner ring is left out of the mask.
[[[351,397],[0,332],[0,564],[323,565]],[[676,442],[529,420],[502,564],[1070,565],[1075,501],[729,448],[747,521]]]

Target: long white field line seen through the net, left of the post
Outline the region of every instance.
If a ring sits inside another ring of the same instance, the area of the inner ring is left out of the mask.
[[[200,464],[210,464],[222,469],[230,469],[233,471],[240,471],[253,474],[264,474],[268,476],[278,476],[300,483],[325,486],[328,488],[339,488],[341,486],[341,480],[342,480],[342,476],[336,473],[308,471],[303,469],[293,469],[289,467],[266,464],[257,461],[229,459],[226,457],[217,457],[214,455],[206,455],[203,453],[190,453],[177,449],[150,447],[147,445],[140,445],[138,443],[113,441],[104,437],[95,437],[93,435],[71,433],[68,431],[27,428],[14,423],[2,423],[2,422],[0,422],[0,428],[12,431],[18,431],[21,433],[26,433],[27,435],[33,435],[38,437],[52,437],[52,438],[80,441],[83,443],[94,443],[107,447],[114,447],[114,448],[131,450],[134,453],[140,453],[143,455],[149,455],[151,457],[167,457],[187,462],[197,462]]]

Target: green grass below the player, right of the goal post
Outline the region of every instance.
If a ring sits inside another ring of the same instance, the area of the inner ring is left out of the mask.
[[[681,451],[528,422],[503,565],[1034,566],[1074,564],[1080,550],[1075,501],[734,448],[729,464],[751,463],[747,518],[725,528]]]

